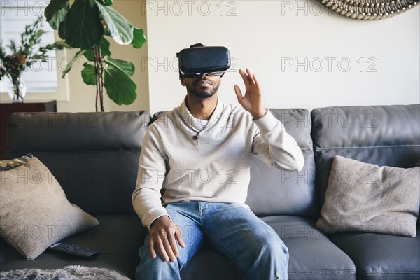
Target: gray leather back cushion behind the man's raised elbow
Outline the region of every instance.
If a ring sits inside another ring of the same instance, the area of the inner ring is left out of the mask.
[[[248,204],[258,216],[300,215],[316,218],[319,213],[315,181],[314,151],[311,140],[311,115],[306,109],[270,109],[281,120],[286,132],[302,149],[304,167],[300,172],[268,167],[251,158],[251,183]]]

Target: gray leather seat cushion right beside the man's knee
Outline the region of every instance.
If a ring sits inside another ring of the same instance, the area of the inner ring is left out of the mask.
[[[356,279],[356,266],[321,231],[315,221],[300,216],[262,218],[276,230],[289,250],[288,277],[292,279]]]

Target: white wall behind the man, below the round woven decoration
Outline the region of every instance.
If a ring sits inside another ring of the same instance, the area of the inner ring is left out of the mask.
[[[238,69],[259,78],[268,107],[420,103],[420,8],[392,18],[345,18],[316,0],[142,1],[147,15],[150,111],[178,106],[176,52],[193,43],[225,45],[235,65],[221,99],[237,103]]]

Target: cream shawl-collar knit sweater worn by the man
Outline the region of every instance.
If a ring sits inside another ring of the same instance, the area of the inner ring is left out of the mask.
[[[230,202],[247,207],[251,155],[279,169],[303,168],[295,139],[269,111],[253,120],[244,109],[218,100],[204,123],[183,102],[148,127],[132,195],[134,209],[148,228],[167,215],[164,206],[172,202]]]

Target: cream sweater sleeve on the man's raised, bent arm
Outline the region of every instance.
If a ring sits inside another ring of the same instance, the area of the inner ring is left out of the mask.
[[[280,120],[268,110],[254,120],[258,129],[253,137],[253,155],[269,166],[286,170],[302,170],[304,158],[296,140],[286,132]]]

